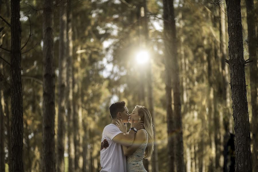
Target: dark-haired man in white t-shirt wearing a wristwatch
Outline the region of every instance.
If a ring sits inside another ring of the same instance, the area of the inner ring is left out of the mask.
[[[116,126],[116,120],[127,123],[129,119],[128,109],[124,101],[113,103],[110,107],[112,117],[111,124],[105,126],[102,133],[100,148],[100,172],[126,172],[126,157],[124,156],[122,145],[130,146],[135,137],[135,133],[143,127],[143,121],[134,123],[129,132],[123,133]],[[127,124],[126,124],[127,125]]]

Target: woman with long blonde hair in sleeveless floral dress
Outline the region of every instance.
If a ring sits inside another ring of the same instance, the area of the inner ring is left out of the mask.
[[[127,172],[147,172],[142,160],[143,158],[150,158],[153,152],[153,125],[150,111],[144,106],[136,105],[128,121],[132,123],[132,119],[134,122],[142,120],[144,129],[136,132],[131,146],[123,146],[124,155],[126,156],[126,169]],[[120,120],[117,120],[116,123],[122,132],[126,132],[126,126]]]

